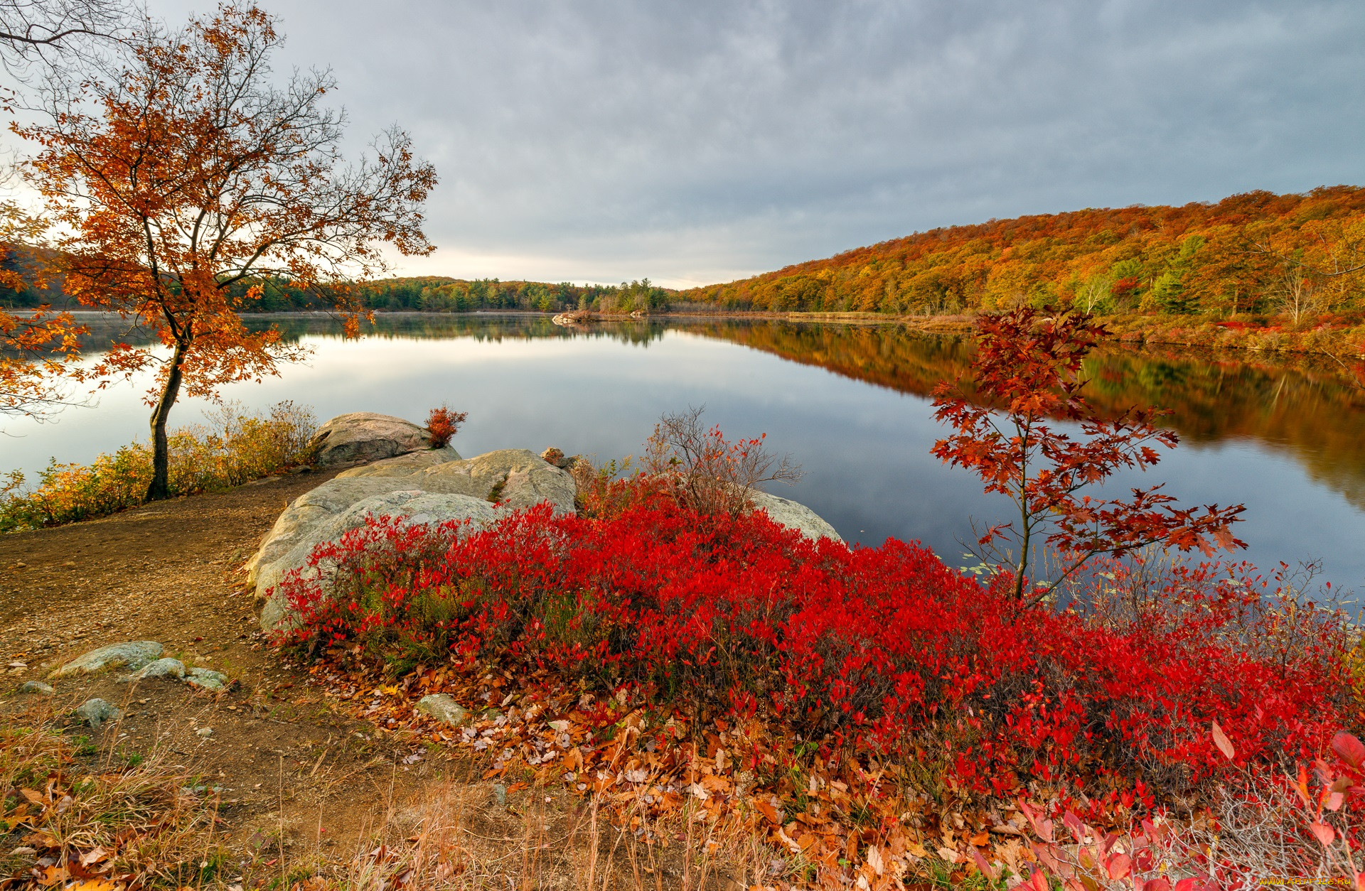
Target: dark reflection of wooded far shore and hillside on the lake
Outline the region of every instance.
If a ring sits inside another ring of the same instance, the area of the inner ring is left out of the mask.
[[[147,342],[119,319],[82,317],[91,333],[89,348],[115,338]],[[247,317],[250,325],[276,325],[288,340],[340,337],[340,322],[328,315]],[[939,381],[965,375],[971,338],[925,334],[894,325],[838,325],[747,319],[644,319],[595,322],[584,327],[554,325],[546,315],[381,314],[367,337],[449,338],[479,341],[535,338],[609,338],[647,347],[677,330],[759,349],[835,374],[928,396]],[[143,340],[135,340],[138,336]],[[1170,426],[1186,442],[1249,439],[1290,452],[1323,484],[1365,509],[1365,393],[1345,383],[1325,362],[1259,355],[1192,355],[1177,349],[1097,351],[1085,362],[1089,393],[1104,413],[1132,405],[1171,409]]]

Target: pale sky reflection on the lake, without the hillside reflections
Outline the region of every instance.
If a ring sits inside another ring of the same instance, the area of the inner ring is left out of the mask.
[[[315,348],[311,362],[225,388],[224,397],[261,408],[292,398],[319,419],[375,411],[422,420],[444,401],[470,412],[455,441],[461,454],[556,445],[599,460],[637,452],[662,411],[704,403],[706,420],[732,437],[767,433],[771,448],[793,452],[805,479],[778,494],[808,503],[849,540],[920,539],[958,562],[968,517],[1005,516],[1003,499],[930,454],[943,428],[927,400],[729,342],[681,332],[648,345],[606,337],[303,340]],[[98,409],[68,409],[56,423],[3,422],[10,435],[0,438],[0,468],[31,473],[49,456],[89,461],[145,438],[143,386],[112,386]],[[199,420],[205,405],[182,401],[172,426]],[[1122,482],[1162,480],[1185,503],[1246,503],[1237,534],[1261,566],[1321,558],[1327,579],[1365,588],[1365,514],[1312,482],[1291,456],[1239,441],[1185,445],[1155,473]]]

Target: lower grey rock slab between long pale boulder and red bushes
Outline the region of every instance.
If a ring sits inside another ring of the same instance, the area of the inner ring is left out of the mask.
[[[268,598],[261,610],[261,628],[276,630],[288,626],[293,619],[292,615],[288,615],[288,604],[284,598],[273,594],[274,587],[284,580],[285,574],[295,569],[304,569],[314,547],[322,542],[336,542],[345,532],[364,525],[366,517],[371,516],[403,517],[410,525],[470,520],[474,527],[478,527],[493,520],[497,513],[487,501],[471,495],[405,490],[363,498],[332,520],[307,529],[288,553],[261,568],[257,574],[257,591]],[[328,569],[330,566],[322,564],[307,569],[307,572],[317,577]]]

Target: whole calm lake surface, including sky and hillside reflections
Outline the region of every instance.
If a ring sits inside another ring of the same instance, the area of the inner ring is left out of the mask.
[[[319,420],[352,411],[415,422],[441,403],[470,419],[453,445],[558,446],[606,461],[639,453],[661,412],[706,405],[729,437],[767,434],[805,469],[796,498],[849,542],[913,540],[961,565],[971,518],[1005,518],[1006,502],[966,471],[930,454],[943,428],[928,393],[968,368],[969,342],[898,326],[732,319],[661,319],[558,327],[547,317],[385,315],[358,341],[322,317],[278,317],[313,349],[278,378],[225,388],[265,408],[311,405]],[[115,327],[91,325],[91,348]],[[1365,393],[1331,366],[1276,364],[1248,355],[1108,351],[1087,364],[1093,401],[1171,409],[1182,445],[1145,475],[1182,503],[1246,505],[1235,529],[1261,568],[1320,559],[1334,585],[1365,587]],[[0,471],[34,473],[49,457],[86,463],[146,437],[149,378],[117,383],[98,405],[44,424],[0,422]],[[172,427],[202,419],[179,403]],[[975,562],[975,561],[971,561]]]

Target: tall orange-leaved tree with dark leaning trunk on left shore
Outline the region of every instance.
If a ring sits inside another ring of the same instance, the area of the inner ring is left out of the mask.
[[[66,288],[82,304],[156,330],[161,349],[115,345],[101,375],[157,367],[153,480],[167,497],[167,419],[176,398],[276,374],[303,353],[240,312],[274,277],[334,304],[358,332],[345,281],[386,267],[385,244],[429,254],[422,203],[433,166],[390,128],[355,164],[345,116],[326,108],[329,71],[276,79],[273,16],[222,4],[172,34],[149,30],[131,61],[53,90],[51,124],[20,127],[38,146],[29,181],[70,232]]]

